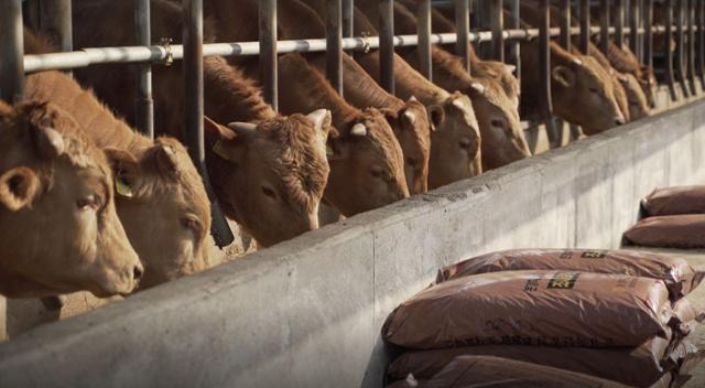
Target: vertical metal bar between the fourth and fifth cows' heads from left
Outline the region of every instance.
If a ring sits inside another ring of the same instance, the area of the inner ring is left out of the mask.
[[[379,1],[380,86],[394,94],[394,0]]]

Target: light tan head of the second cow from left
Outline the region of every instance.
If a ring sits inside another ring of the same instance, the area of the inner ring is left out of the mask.
[[[118,215],[144,263],[140,289],[210,267],[210,204],[186,149],[160,138],[139,158],[105,151],[116,175]]]

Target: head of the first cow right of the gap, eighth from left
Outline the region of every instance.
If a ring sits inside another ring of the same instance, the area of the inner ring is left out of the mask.
[[[551,78],[556,115],[582,126],[585,133],[625,123],[612,80],[593,57],[573,55],[553,66]]]

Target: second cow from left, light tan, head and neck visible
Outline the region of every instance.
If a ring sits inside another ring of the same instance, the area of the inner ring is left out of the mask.
[[[28,52],[44,50],[29,32],[25,45]],[[178,141],[166,137],[152,141],[133,131],[63,73],[30,75],[25,88],[28,96],[70,112],[110,159],[119,181],[118,215],[145,266],[141,289],[210,267],[210,204]]]

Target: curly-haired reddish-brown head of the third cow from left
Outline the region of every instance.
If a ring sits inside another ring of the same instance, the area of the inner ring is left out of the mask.
[[[226,214],[267,247],[318,227],[330,112],[259,125],[206,122],[213,187]]]

